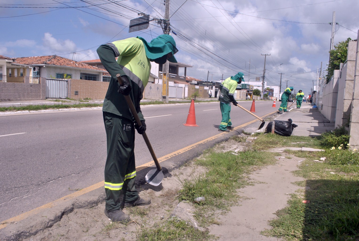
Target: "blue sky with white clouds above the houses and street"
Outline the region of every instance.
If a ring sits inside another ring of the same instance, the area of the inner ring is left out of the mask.
[[[282,91],[289,80],[288,86],[307,94],[321,62],[325,69],[329,60],[333,11],[337,44],[356,40],[358,10],[357,0],[172,0],[170,22],[177,60],[193,65],[188,76],[206,80],[209,71],[209,80],[218,80],[242,71],[253,81],[263,75],[263,55],[270,54],[267,85],[279,85],[278,73],[284,73]],[[98,59],[103,43],[162,34],[155,21],[129,33],[139,12],[162,19],[163,0],[0,0],[0,55]]]

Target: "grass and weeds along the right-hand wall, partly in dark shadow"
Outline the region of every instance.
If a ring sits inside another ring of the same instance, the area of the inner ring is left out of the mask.
[[[273,228],[264,235],[290,241],[359,240],[359,153],[346,148],[345,135],[338,129],[310,142],[313,148],[325,148],[324,152],[290,151],[307,158],[294,172],[306,179],[297,183],[306,189],[292,194],[288,207],[276,213],[278,219],[269,222]],[[306,137],[299,139],[308,142]],[[329,149],[328,140],[336,145]]]

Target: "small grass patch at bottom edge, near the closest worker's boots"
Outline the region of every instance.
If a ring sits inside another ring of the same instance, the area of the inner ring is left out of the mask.
[[[216,240],[214,235],[209,235],[209,231],[200,231],[185,221],[171,218],[165,223],[155,224],[150,228],[141,228],[136,233],[137,241],[207,241]]]

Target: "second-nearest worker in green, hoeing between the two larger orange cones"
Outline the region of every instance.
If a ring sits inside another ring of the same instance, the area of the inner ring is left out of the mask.
[[[220,94],[219,94],[219,107],[222,113],[222,121],[219,125],[218,131],[229,132],[229,129],[232,129],[232,121],[230,120],[230,102],[233,105],[237,106],[237,101],[234,99],[234,91],[236,91],[237,84],[240,84],[244,81],[244,75],[242,72],[231,76],[224,80],[224,82],[219,84]]]

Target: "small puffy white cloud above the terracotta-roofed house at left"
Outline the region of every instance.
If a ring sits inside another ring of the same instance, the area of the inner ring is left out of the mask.
[[[43,40],[43,47],[45,47],[49,54],[61,54],[66,52],[76,52],[76,45],[71,40],[58,40],[52,37],[51,33],[45,33]]]

